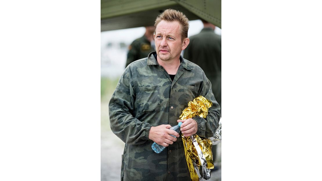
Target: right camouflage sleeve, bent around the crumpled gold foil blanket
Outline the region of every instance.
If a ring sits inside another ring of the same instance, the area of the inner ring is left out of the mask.
[[[213,106],[209,108],[208,115],[205,119],[199,116],[194,117],[193,119],[198,124],[198,131],[196,134],[201,137],[208,138],[213,137],[214,133],[218,128],[218,123],[220,120],[220,106],[213,95],[213,91],[211,89],[211,82],[207,79],[204,73],[203,77],[203,85],[199,95],[202,95],[207,100],[210,100],[213,103]]]

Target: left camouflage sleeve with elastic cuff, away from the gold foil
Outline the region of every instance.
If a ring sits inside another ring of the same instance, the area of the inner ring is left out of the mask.
[[[127,144],[142,144],[149,139],[151,125],[131,114],[135,93],[126,69],[109,101],[109,121],[113,133]]]

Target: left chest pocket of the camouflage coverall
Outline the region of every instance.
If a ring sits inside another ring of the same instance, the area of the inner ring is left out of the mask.
[[[137,114],[160,111],[160,89],[158,85],[137,87],[136,94]]]

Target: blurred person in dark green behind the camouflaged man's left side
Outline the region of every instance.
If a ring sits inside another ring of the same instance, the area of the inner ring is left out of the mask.
[[[131,43],[128,47],[128,58],[125,67],[136,60],[146,58],[149,53],[155,51],[154,30],[154,26],[146,26],[144,35]]]

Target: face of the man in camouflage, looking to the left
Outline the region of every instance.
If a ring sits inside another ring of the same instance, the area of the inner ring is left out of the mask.
[[[156,26],[154,41],[156,43],[156,54],[163,61],[179,60],[181,50],[186,47],[183,48],[181,28],[177,21],[162,20]]]

